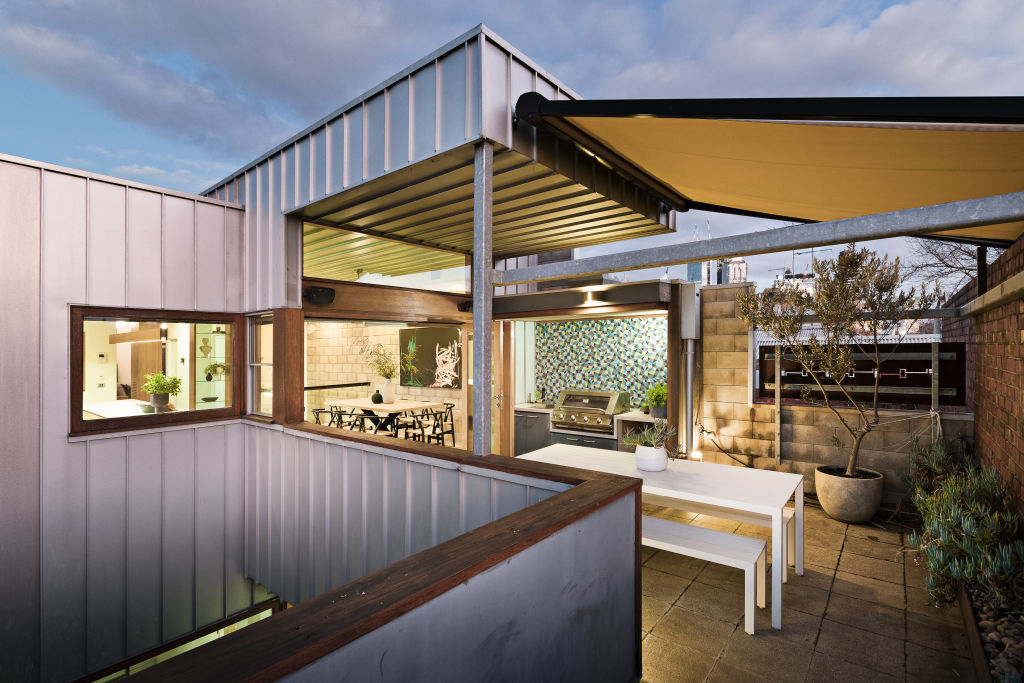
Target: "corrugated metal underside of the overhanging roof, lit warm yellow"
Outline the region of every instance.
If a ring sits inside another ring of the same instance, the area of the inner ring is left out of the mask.
[[[518,153],[495,152],[494,254],[498,258],[557,251],[669,231],[665,225],[637,211],[651,201],[613,172],[594,163],[578,163],[579,153],[552,160],[551,166]],[[357,190],[341,193],[300,210],[299,215],[322,227],[412,245],[449,250],[458,258],[473,247],[472,147],[439,156],[429,162],[389,174]],[[306,229],[306,241],[326,248],[323,231]],[[340,245],[341,238],[334,241]],[[353,243],[354,244],[354,243]],[[370,249],[372,242],[359,243]],[[394,246],[379,246],[397,254]],[[340,252],[334,250],[337,255]],[[423,250],[410,252],[395,267],[415,267]],[[328,267],[328,253],[317,267]],[[436,257],[440,259],[441,257]],[[422,260],[422,259],[419,259]],[[307,263],[310,255],[307,255]],[[344,267],[349,267],[345,264]],[[426,268],[421,267],[420,270]],[[313,276],[309,269],[305,274]],[[327,276],[327,275],[314,275]]]

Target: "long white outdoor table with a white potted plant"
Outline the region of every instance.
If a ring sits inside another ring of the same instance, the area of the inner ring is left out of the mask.
[[[586,449],[579,445],[555,444],[519,456],[553,465],[621,474],[643,479],[643,497],[660,505],[691,509],[722,508],[764,515],[771,518],[771,625],[782,628],[782,577],[786,571],[782,559],[785,548],[783,509],[796,497],[794,514],[797,535],[797,573],[804,573],[804,477],[788,472],[713,465],[690,460],[670,460],[662,472],[638,470],[631,453]],[[709,514],[714,514],[713,512]]]

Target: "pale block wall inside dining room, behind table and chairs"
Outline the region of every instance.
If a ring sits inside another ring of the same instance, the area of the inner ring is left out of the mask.
[[[306,392],[306,419],[312,421],[314,408],[328,408],[343,398],[368,396],[380,386],[378,378],[359,354],[353,342],[359,337],[368,337],[371,343],[381,343],[391,349],[395,361],[398,360],[398,327],[366,326],[362,323],[311,321],[306,323],[306,386],[321,384],[346,384],[349,382],[370,382],[370,387],[349,389],[324,389]],[[468,358],[463,358],[463,381],[466,381]],[[461,389],[439,387],[400,386],[398,378],[391,380],[396,397],[443,400],[455,403],[456,425],[466,407],[463,405]],[[456,429],[456,445],[466,447],[466,435]]]

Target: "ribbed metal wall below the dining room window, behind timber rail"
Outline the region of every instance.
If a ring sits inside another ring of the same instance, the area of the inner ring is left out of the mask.
[[[569,486],[246,425],[246,569],[297,603]]]

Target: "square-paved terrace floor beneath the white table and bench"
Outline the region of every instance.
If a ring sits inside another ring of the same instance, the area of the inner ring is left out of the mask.
[[[649,505],[644,514],[680,518]],[[770,539],[764,527],[687,517]],[[753,636],[742,571],[644,548],[643,680],[975,680],[959,609],[928,605],[925,572],[902,545],[909,529],[844,524],[811,505],[805,519],[804,575],[791,569],[783,585],[782,629],[771,629],[769,595]]]

